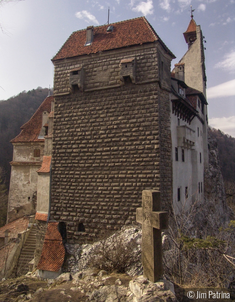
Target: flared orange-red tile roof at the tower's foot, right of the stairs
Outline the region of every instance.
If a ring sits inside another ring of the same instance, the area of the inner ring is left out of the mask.
[[[49,222],[37,269],[59,271],[65,258],[65,248],[58,231],[58,222]]]

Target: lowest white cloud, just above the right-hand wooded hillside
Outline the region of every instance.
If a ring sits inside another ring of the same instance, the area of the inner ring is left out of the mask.
[[[209,125],[235,137],[235,116],[209,118]]]

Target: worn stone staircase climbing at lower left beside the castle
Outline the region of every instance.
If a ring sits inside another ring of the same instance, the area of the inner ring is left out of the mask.
[[[24,242],[23,249],[21,251],[20,259],[15,263],[12,270],[12,275],[15,275],[15,269],[17,265],[17,276],[25,275],[29,271],[29,262],[34,258],[34,251],[36,247],[36,226],[31,226],[30,233]]]

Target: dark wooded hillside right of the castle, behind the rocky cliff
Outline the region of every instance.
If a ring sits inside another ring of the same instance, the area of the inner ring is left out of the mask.
[[[223,180],[235,182],[235,138],[214,128],[210,128],[209,133],[218,143]]]

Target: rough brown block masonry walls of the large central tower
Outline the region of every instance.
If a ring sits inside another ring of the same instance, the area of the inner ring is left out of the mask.
[[[123,85],[121,60],[130,58],[135,83]],[[53,60],[50,220],[66,223],[68,243],[135,222],[142,190],[161,191],[163,210],[169,208],[171,59],[154,42]],[[83,91],[71,92],[70,72],[81,67]]]

